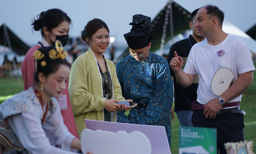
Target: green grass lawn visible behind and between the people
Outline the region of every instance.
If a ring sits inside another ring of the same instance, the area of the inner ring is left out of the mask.
[[[256,67],[256,65],[255,65]],[[241,108],[246,112],[244,116],[245,122],[245,140],[251,141],[254,140],[256,142],[256,71],[253,72],[254,79],[253,83],[246,90],[251,93],[252,96],[248,94],[243,94]],[[13,79],[0,79],[0,104],[4,101],[5,98],[10,97],[24,89],[22,78],[17,80]],[[179,121],[176,117],[176,113],[174,113],[174,120],[172,120],[172,145],[171,152],[172,154],[179,153]],[[253,151],[256,153],[256,143],[254,143]]]

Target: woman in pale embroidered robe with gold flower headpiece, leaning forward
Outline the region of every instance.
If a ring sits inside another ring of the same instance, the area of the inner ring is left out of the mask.
[[[80,140],[64,125],[56,100],[69,78],[67,54],[59,41],[56,48],[36,50],[33,54],[36,86],[0,105],[0,143],[6,151],[72,154],[81,150]]]

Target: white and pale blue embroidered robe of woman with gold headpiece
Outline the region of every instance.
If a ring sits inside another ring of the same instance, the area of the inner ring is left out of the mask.
[[[34,87],[4,101],[0,106],[0,143],[12,150],[26,148],[33,154],[77,152],[71,149],[71,141],[75,137],[64,125],[55,97],[41,125],[44,111],[34,93]]]

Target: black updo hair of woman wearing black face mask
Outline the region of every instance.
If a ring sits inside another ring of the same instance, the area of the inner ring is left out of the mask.
[[[41,29],[42,36],[44,35],[44,27],[47,27],[47,29],[52,31],[53,28],[57,27],[63,21],[67,21],[69,24],[71,24],[71,19],[67,13],[59,9],[43,11],[37,15],[37,18],[37,20],[32,20],[33,23],[31,25],[33,25],[33,29],[35,31]]]

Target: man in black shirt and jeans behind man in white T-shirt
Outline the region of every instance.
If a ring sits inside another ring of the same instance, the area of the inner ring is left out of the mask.
[[[174,52],[176,51],[178,55],[183,58],[184,64],[182,69],[185,67],[187,57],[191,48],[198,42],[204,40],[203,37],[199,36],[199,32],[196,25],[196,15],[199,9],[194,10],[191,13],[191,21],[189,22],[190,29],[192,29],[192,35],[189,35],[188,38],[174,43],[171,48],[167,58],[168,64],[170,64],[172,58],[174,57]],[[170,66],[169,66],[170,67]],[[177,118],[181,126],[192,127],[191,116],[192,111],[192,102],[197,99],[197,88],[199,79],[196,76],[195,80],[189,87],[183,87],[179,82],[177,82],[174,75],[174,71],[170,67],[171,75],[173,76],[174,84],[174,112],[176,112]]]

